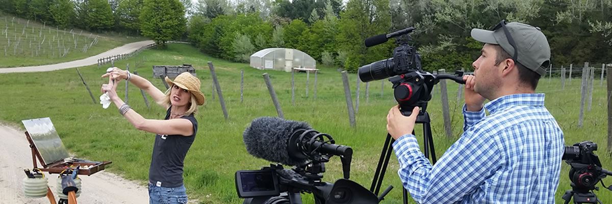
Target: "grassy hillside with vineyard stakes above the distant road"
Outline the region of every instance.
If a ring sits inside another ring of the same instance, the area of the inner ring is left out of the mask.
[[[146,40],[123,34],[57,29],[0,12],[0,67],[35,66],[84,59],[126,43]]]

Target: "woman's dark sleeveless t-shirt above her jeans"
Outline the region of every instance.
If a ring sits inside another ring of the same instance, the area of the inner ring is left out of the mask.
[[[166,118],[170,118],[170,108]],[[181,118],[193,124],[193,135],[155,135],[155,145],[149,167],[149,183],[161,187],[179,187],[183,184],[183,161],[198,132],[198,121],[193,113]]]

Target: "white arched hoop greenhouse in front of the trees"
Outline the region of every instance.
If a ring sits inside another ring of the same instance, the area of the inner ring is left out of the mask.
[[[251,67],[256,69],[285,70],[294,67],[316,69],[316,61],[310,55],[291,48],[266,48],[251,55]]]

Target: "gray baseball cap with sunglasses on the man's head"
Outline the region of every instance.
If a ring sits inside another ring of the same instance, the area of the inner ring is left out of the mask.
[[[509,34],[510,38],[506,37],[506,34]],[[493,31],[474,28],[471,35],[480,42],[501,46],[515,61],[540,76],[546,74],[550,64],[550,45],[540,28],[501,21]]]

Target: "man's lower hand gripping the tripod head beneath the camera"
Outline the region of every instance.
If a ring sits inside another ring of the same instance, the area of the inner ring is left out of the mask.
[[[414,130],[414,123],[417,121],[419,115],[419,107],[412,109],[412,114],[408,117],[401,115],[400,105],[395,105],[389,110],[387,115],[387,132],[395,140],[400,138],[402,135],[412,134]]]

